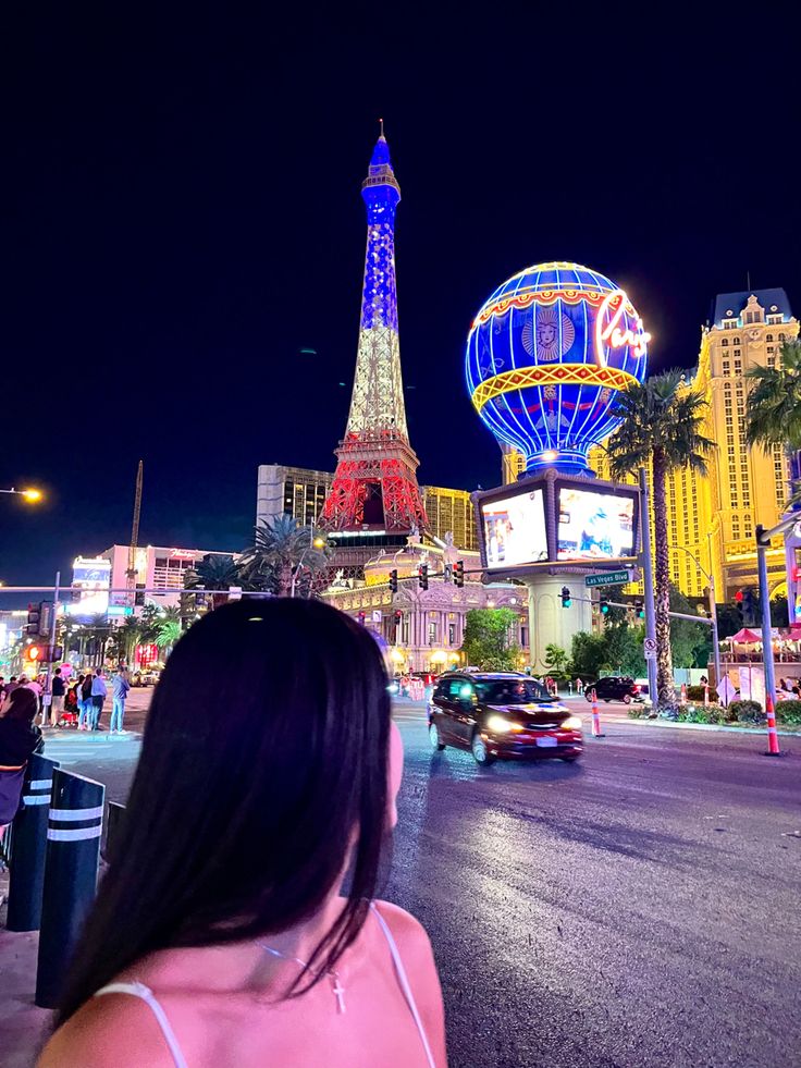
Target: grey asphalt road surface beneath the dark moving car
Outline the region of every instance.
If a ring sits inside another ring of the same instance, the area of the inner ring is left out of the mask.
[[[801,738],[611,717],[578,764],[479,769],[396,719],[382,893],[430,932],[452,1066],[801,1065]],[[81,745],[123,799],[138,744]]]

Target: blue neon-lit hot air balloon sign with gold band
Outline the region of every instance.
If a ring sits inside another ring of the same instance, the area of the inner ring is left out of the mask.
[[[526,474],[592,475],[587,454],[615,429],[615,396],[642,382],[650,334],[629,296],[578,263],[540,263],[484,303],[467,340],[470,397]]]

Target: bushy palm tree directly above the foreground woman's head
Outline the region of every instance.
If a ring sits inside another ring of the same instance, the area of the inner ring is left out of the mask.
[[[301,570],[313,577],[328,563],[325,552],[315,544],[312,527],[301,527],[289,515],[261,519],[254,544],[239,557],[243,579],[257,589],[280,597],[294,597]]]

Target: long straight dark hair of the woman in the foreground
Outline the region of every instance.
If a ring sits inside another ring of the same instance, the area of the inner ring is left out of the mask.
[[[57,1022],[156,949],[264,937],[313,916],[353,842],[346,907],[301,977],[312,985],[374,896],[389,737],[381,652],[343,613],[245,599],[196,623],[153,695]]]

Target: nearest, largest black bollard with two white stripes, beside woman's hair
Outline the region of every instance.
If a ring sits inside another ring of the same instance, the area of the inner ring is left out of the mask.
[[[47,828],[36,1004],[56,1008],[97,891],[106,787],[57,771]]]

